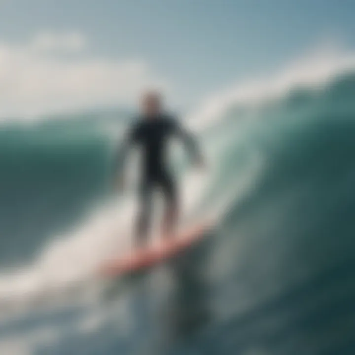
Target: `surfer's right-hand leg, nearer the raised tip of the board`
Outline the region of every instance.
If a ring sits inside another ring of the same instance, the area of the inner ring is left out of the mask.
[[[168,174],[164,174],[161,178],[160,185],[165,199],[162,234],[165,237],[173,237],[178,222],[177,187],[174,179]]]

